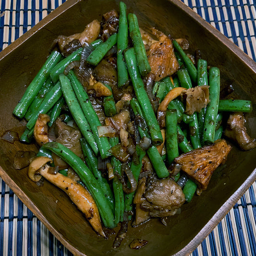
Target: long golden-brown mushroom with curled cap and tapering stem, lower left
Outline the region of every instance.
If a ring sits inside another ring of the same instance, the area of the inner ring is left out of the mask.
[[[51,174],[50,167],[47,163],[52,162],[50,158],[38,157],[35,158],[29,165],[28,175],[32,181],[39,181],[41,176],[63,190],[72,200],[72,202],[81,210],[86,219],[98,234],[106,237],[100,223],[98,208],[92,196],[81,184],[72,180],[61,173]],[[38,169],[37,169],[38,168]]]

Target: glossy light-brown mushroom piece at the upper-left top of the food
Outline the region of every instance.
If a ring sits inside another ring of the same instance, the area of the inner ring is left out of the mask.
[[[63,48],[65,45],[73,41],[74,39],[78,39],[82,47],[85,44],[85,41],[92,43],[95,41],[99,35],[100,31],[100,23],[98,20],[94,20],[91,23],[87,24],[85,27],[85,30],[81,33],[74,34],[72,36],[66,37],[66,36],[59,36],[57,38],[59,48],[61,52],[63,51]]]

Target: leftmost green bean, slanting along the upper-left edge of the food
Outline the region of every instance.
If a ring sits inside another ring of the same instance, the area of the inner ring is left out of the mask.
[[[30,85],[26,88],[26,91],[13,110],[13,114],[19,118],[23,118],[30,104],[37,97],[38,92],[44,85],[44,82],[49,77],[50,70],[61,60],[61,54],[58,51],[53,51],[47,58],[47,61],[43,64],[35,78]]]

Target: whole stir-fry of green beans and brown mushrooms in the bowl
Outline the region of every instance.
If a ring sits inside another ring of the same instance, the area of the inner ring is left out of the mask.
[[[230,139],[256,147],[245,128],[251,102],[223,98],[218,67],[188,54],[187,39],[140,28],[123,2],[54,47],[13,110],[24,133],[2,139],[36,143],[15,168],[63,190],[99,235],[119,226],[114,248],[129,223],[166,225],[203,193]]]

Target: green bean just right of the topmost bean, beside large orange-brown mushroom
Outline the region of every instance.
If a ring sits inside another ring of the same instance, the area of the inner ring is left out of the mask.
[[[133,45],[134,45],[134,50],[136,54],[136,59],[138,62],[139,71],[142,76],[145,76],[147,73],[151,71],[151,68],[147,60],[146,49],[140,34],[138,20],[134,13],[128,14],[128,23],[129,23],[130,37],[133,40]]]

